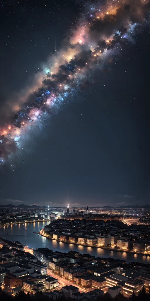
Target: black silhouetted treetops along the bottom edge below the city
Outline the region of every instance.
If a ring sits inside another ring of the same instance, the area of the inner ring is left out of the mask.
[[[0,301],[48,301],[49,299],[50,298],[44,295],[42,292],[38,292],[33,296],[29,293],[26,294],[24,291],[21,291],[16,294],[16,296],[12,297],[5,293],[3,290],[0,290]],[[57,299],[57,301],[66,300],[72,301],[71,298],[65,298],[64,296]],[[129,298],[127,298],[119,293],[116,297],[112,298],[109,293],[106,293],[103,297],[98,297],[97,301],[150,301],[150,293],[147,294],[145,287],[143,286],[142,290],[140,290],[137,296],[135,295],[135,293],[133,293]]]

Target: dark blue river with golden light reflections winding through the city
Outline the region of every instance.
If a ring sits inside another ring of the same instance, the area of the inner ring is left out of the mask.
[[[81,245],[76,246],[73,244],[66,244],[63,242],[58,242],[56,240],[51,240],[45,238],[41,235],[34,234],[34,231],[39,231],[41,228],[44,228],[45,225],[49,224],[49,222],[37,222],[37,223],[25,223],[25,224],[16,224],[5,226],[4,228],[0,228],[0,236],[1,234],[9,234],[7,236],[2,236],[8,240],[16,241],[18,240],[22,244],[26,244],[30,248],[48,248],[55,251],[68,252],[70,250],[79,251],[84,254],[91,254],[95,257],[113,257],[114,259],[124,259],[126,262],[143,262],[150,263],[150,256],[143,256],[137,254],[130,254],[126,252],[114,252],[109,250],[103,250],[101,248],[91,248],[91,247],[83,247]]]

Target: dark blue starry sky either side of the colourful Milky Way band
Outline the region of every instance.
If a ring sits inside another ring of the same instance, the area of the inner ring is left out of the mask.
[[[78,1],[1,2],[1,122],[81,11]],[[146,25],[1,166],[0,204],[150,204],[149,67]]]

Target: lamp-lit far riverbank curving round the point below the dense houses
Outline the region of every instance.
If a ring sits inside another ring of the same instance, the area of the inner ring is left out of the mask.
[[[51,239],[51,240],[56,240],[56,241],[59,241],[59,242],[63,242],[64,244],[74,244],[74,245],[77,245],[77,246],[83,246],[83,247],[91,247],[91,248],[100,248],[100,249],[103,249],[103,250],[107,250],[107,251],[113,251],[113,252],[125,252],[125,253],[130,253],[130,254],[137,254],[137,255],[144,255],[144,256],[150,256],[150,254],[146,254],[146,253],[139,253],[139,252],[134,252],[134,251],[128,251],[128,250],[122,250],[122,249],[115,249],[115,248],[107,248],[107,247],[100,247],[100,246],[96,246],[96,245],[88,245],[88,244],[79,244],[79,243],[76,243],[76,242],[70,242],[70,241],[67,241],[67,240],[61,240],[61,239],[57,239],[57,238],[52,238],[52,237],[49,237],[48,235],[44,234],[43,233],[44,231],[44,228],[42,228],[39,233],[48,238],[48,239]]]

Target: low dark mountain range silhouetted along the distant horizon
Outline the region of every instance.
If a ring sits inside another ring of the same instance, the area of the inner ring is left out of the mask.
[[[13,205],[13,204],[8,204],[8,205],[0,205],[0,208],[30,208],[30,209],[38,209],[38,208],[48,208],[47,206],[37,206],[37,205],[32,205],[32,206],[29,206],[29,205],[24,205],[24,204],[20,204],[20,205]],[[60,207],[59,207],[60,208]],[[86,207],[85,207],[86,208]],[[128,206],[119,206],[119,207],[111,207],[111,206],[103,206],[103,207],[94,207],[94,208],[103,208],[103,209],[125,209],[125,208],[133,208],[133,209],[150,209],[150,205],[144,205],[144,206],[138,206],[138,205],[128,205]]]

